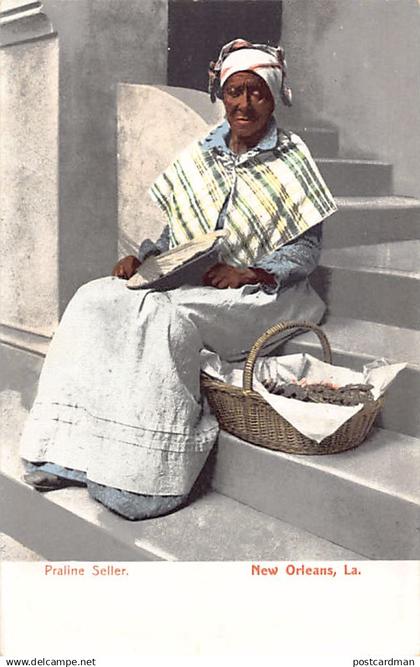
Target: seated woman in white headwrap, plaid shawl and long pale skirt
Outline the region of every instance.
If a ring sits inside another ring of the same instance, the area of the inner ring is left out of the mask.
[[[200,350],[238,359],[275,322],[324,313],[307,276],[336,207],[305,144],[274,121],[275,105],[290,104],[283,52],[234,40],[210,75],[226,121],[153,184],[168,220],[160,239],[69,303],[22,438],[29,484],[86,485],[128,519],[185,504],[216,441]],[[126,289],[147,255],[221,227],[223,261],[202,287]]]

